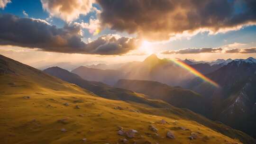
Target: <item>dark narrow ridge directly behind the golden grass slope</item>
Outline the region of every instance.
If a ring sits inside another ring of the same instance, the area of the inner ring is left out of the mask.
[[[51,67],[44,70],[44,72],[58,77],[64,81],[77,84],[78,86],[90,90],[91,92],[106,98],[106,99],[115,99],[115,100],[125,100],[125,101],[134,101],[138,103],[143,103],[150,105],[156,108],[171,108],[172,106],[160,100],[151,100],[144,98],[145,96],[142,94],[135,93],[130,90],[114,88],[109,85],[106,85],[102,82],[97,81],[86,81],[83,80],[77,74],[72,72],[68,72],[59,67]]]

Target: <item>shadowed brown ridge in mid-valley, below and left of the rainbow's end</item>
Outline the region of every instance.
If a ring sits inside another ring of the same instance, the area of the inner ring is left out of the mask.
[[[119,80],[115,86],[146,94],[150,99],[162,99],[175,107],[188,108],[194,112],[203,113],[205,109],[201,95],[192,90],[141,80]]]

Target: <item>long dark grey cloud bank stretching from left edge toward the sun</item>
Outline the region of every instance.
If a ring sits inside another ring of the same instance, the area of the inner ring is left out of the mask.
[[[82,41],[81,26],[49,25],[45,20],[0,14],[0,45],[39,48],[48,52],[77,54],[125,54],[136,49],[136,38],[101,36],[88,44]]]

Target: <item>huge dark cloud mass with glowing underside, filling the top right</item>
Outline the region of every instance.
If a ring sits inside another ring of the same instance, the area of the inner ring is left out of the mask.
[[[256,24],[256,0],[96,0],[101,24],[151,41]],[[238,10],[239,9],[239,10]]]

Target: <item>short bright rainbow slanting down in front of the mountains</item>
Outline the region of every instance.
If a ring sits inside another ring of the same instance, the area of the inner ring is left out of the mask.
[[[219,88],[219,84],[216,83],[215,81],[210,80],[209,78],[207,78],[206,76],[204,76],[203,74],[201,74],[200,72],[198,72],[197,70],[195,70],[194,68],[192,68],[190,65],[183,63],[182,61],[179,60],[171,60],[174,63],[176,63],[177,65],[183,67],[184,69],[188,70],[189,72],[191,72],[192,74],[194,74],[195,76],[198,76],[199,78],[201,78],[203,81],[209,82],[210,84],[212,84],[213,86]]]

